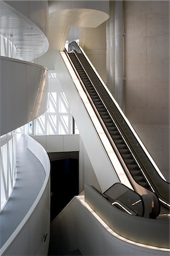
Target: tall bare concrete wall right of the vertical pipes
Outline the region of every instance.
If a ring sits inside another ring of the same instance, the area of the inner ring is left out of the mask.
[[[169,179],[169,1],[125,1],[125,114]]]

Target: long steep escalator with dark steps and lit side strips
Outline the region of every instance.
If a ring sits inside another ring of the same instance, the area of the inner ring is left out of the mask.
[[[75,42],[70,44],[69,49],[69,53],[65,51],[66,55],[78,72],[84,90],[94,104],[94,110],[100,117],[101,125],[132,187],[140,195],[151,194],[155,197],[155,202],[158,197],[160,204],[169,208],[169,183],[159,175],[81,49]]]

